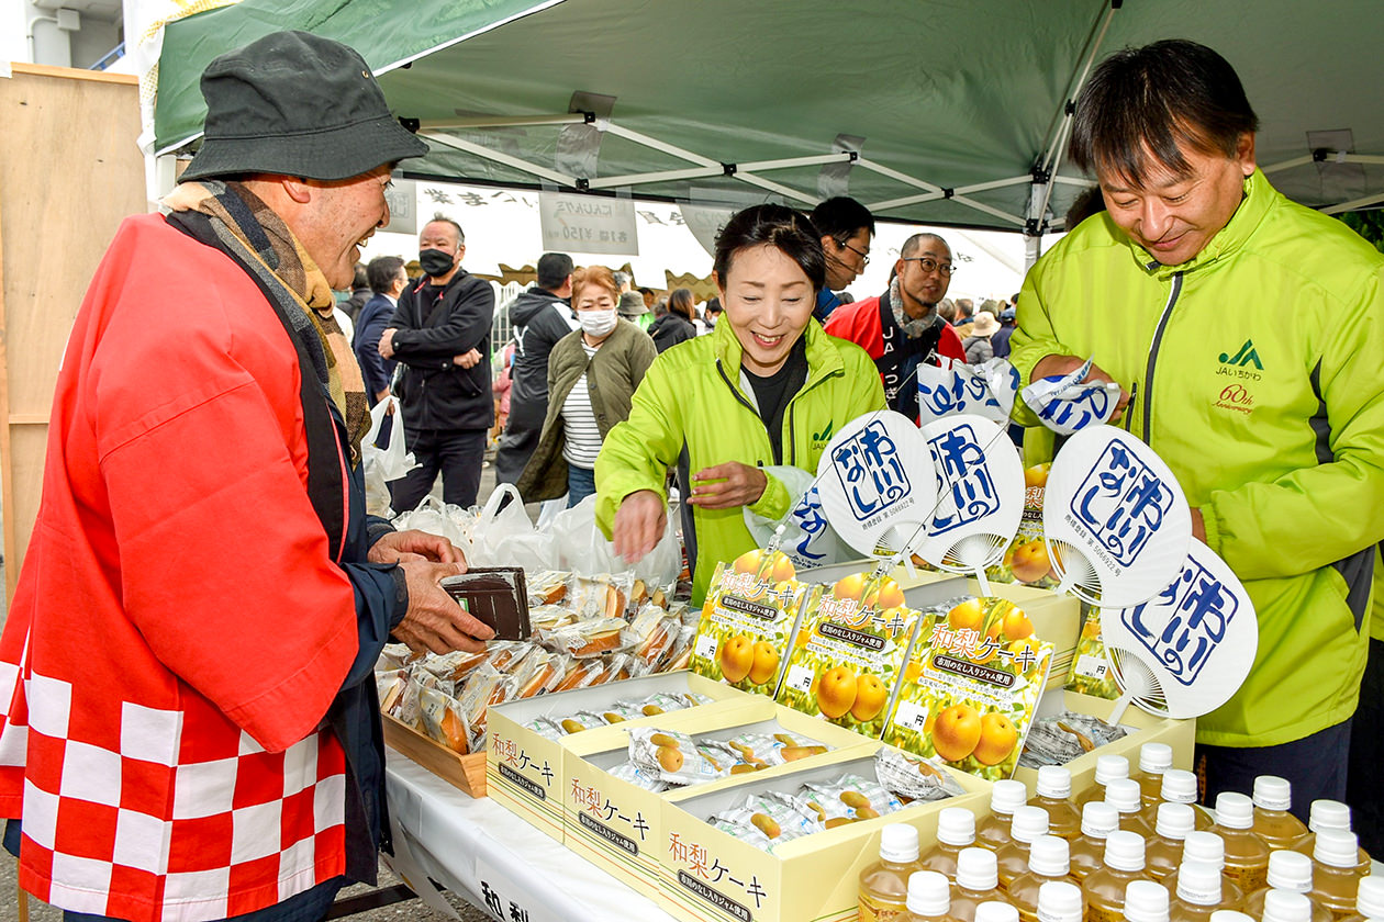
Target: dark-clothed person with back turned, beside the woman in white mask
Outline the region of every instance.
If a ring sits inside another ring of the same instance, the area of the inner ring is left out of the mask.
[[[509,420],[495,451],[495,482],[518,484],[538,446],[548,415],[548,354],[572,330],[581,329],[572,312],[572,257],[544,253],[538,278],[509,304],[515,330],[515,364],[509,369]]]

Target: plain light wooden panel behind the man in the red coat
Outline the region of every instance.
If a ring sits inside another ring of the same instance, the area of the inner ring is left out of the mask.
[[[133,77],[17,64],[0,79],[0,503],[12,596],[72,319],[120,220],[147,202]]]

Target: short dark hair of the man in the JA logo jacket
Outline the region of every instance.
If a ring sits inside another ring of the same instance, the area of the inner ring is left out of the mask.
[[[1077,98],[1071,160],[1086,173],[1113,173],[1143,185],[1154,166],[1189,176],[1182,145],[1235,156],[1259,119],[1230,62],[1185,39],[1110,55]]]

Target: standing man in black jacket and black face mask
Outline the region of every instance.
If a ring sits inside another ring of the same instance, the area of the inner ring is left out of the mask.
[[[390,484],[396,511],[432,491],[441,471],[443,500],[469,507],[480,489],[486,435],[495,422],[490,393],[490,321],[495,293],[461,268],[461,225],[435,216],[418,235],[424,278],[399,299],[379,354],[404,364],[399,399],[408,451],[418,467]]]

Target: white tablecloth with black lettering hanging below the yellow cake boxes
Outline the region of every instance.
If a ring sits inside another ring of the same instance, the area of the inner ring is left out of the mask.
[[[415,890],[425,885],[411,879],[410,863],[505,922],[673,922],[650,900],[490,799],[462,793],[393,749],[386,753],[396,829],[392,864]]]

